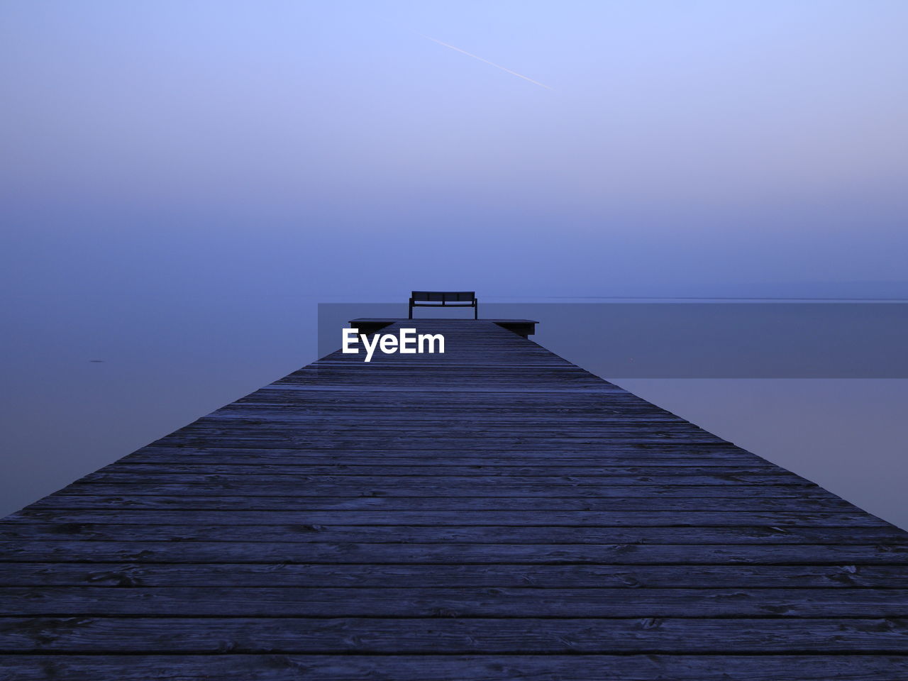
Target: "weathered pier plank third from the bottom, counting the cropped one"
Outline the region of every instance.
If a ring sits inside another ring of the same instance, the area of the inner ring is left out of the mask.
[[[693,610],[692,610],[693,608]],[[908,617],[906,589],[0,587],[0,616]]]

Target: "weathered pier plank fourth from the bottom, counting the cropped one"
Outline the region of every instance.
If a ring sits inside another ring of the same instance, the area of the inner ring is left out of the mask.
[[[0,563],[9,587],[672,587],[908,588],[885,565],[315,565],[293,563]],[[844,592],[843,592],[844,593]]]

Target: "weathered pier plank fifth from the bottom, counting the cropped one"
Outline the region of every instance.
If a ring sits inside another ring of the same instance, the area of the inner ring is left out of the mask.
[[[905,545],[834,544],[388,544],[243,541],[105,541],[40,539],[0,542],[5,562],[381,563],[606,565],[901,565]]]

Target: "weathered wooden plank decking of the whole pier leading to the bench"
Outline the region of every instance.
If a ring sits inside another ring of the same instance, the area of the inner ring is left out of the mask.
[[[2,523],[0,677],[896,681],[903,531],[489,321]]]

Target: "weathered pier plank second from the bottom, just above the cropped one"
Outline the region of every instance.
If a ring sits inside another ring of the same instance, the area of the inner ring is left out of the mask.
[[[908,620],[0,617],[0,653],[908,654]]]

